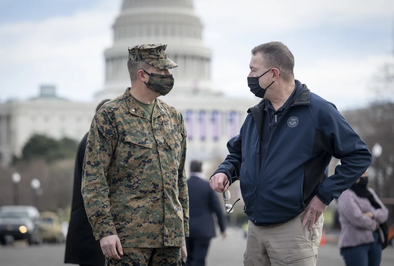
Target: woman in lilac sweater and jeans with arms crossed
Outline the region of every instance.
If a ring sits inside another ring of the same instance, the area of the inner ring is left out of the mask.
[[[338,246],[346,266],[379,266],[387,246],[388,209],[367,185],[368,170],[338,199]]]

